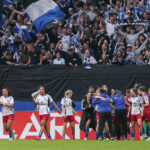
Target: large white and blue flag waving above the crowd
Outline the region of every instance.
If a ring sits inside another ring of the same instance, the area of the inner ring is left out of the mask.
[[[53,20],[65,17],[64,12],[53,0],[22,0],[22,2],[38,32]]]

